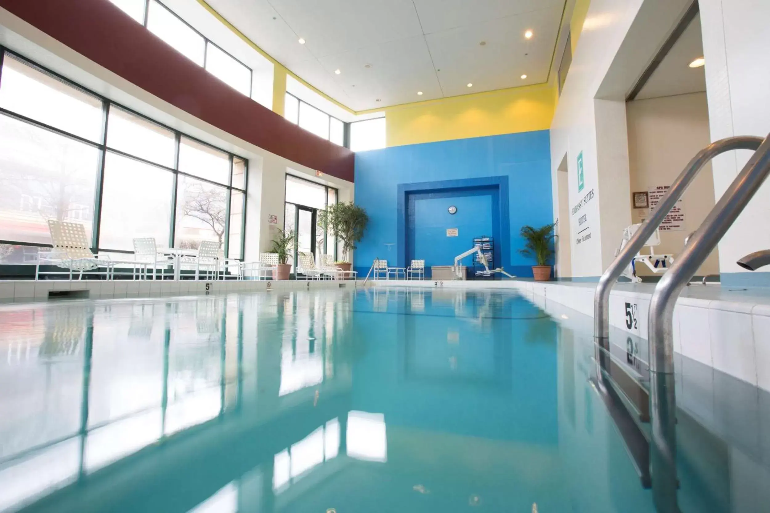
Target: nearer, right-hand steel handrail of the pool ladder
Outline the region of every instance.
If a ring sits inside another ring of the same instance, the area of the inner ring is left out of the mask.
[[[682,288],[716,247],[728,228],[770,174],[770,135],[742,171],[689,244],[663,275],[652,294],[648,318],[650,348],[651,467],[653,498],[658,511],[678,511],[676,477],[676,396],[674,385],[674,305]]]

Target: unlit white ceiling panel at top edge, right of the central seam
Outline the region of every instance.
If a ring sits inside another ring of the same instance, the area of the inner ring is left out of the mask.
[[[563,0],[414,0],[426,34],[547,8],[564,8]]]

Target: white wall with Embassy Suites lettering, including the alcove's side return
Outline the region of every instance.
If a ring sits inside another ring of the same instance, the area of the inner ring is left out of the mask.
[[[591,0],[551,125],[552,173],[565,153],[569,167],[574,277],[601,275],[631,224],[625,97],[689,5],[689,0]],[[578,191],[581,152],[585,185]],[[586,202],[591,191],[594,197]],[[557,212],[554,193],[554,216]],[[582,240],[588,233],[591,238]]]

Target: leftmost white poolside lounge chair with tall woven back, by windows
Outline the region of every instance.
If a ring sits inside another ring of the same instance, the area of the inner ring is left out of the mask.
[[[51,232],[52,251],[41,252],[37,265],[35,265],[35,280],[41,274],[65,275],[62,271],[40,271],[41,265],[55,265],[69,271],[69,279],[72,273],[79,272],[78,279],[83,278],[83,271],[93,271],[100,267],[105,271],[92,274],[104,274],[106,279],[115,277],[115,264],[133,265],[132,261],[112,260],[109,255],[94,255],[89,248],[88,238],[85,236],[85,226],[80,223],[54,221],[49,219],[49,231]]]

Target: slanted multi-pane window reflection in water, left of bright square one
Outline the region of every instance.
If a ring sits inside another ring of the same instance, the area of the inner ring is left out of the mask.
[[[275,456],[273,489],[279,490],[290,481],[298,481],[317,465],[336,458],[339,451],[340,421],[333,418]]]

